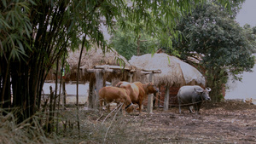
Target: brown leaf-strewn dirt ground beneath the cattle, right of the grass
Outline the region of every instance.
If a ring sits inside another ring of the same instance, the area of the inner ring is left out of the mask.
[[[156,108],[151,114],[120,116],[125,135],[119,136],[126,137],[125,143],[256,143],[255,105],[242,101],[204,103],[200,111],[195,115],[183,107],[179,114],[178,107],[166,112]],[[120,121],[112,118],[106,121],[114,121],[113,125]],[[104,118],[91,120],[102,123]]]

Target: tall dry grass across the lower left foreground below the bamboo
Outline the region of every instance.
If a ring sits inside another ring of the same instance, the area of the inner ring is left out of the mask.
[[[3,112],[3,109],[0,109]],[[59,132],[47,132],[47,115],[38,113],[16,124],[15,113],[0,115],[0,144],[27,143],[137,143],[131,134],[129,120],[119,112],[98,112],[80,109],[80,135],[75,117],[76,108],[60,112]],[[55,128],[54,128],[55,129]],[[132,139],[131,139],[132,137]],[[128,142],[129,141],[129,142]]]

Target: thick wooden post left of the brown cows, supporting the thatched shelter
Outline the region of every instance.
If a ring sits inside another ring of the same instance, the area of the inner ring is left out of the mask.
[[[95,70],[95,77],[96,77],[96,96],[94,100],[94,109],[99,107],[99,90],[103,87],[103,75],[102,70]]]

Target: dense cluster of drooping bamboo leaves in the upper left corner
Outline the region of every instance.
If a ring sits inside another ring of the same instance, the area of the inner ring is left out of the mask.
[[[27,56],[26,50],[31,50],[28,43],[32,32],[29,20],[31,9],[29,3],[26,2],[3,0],[2,3],[0,7],[0,56],[4,56],[5,60],[20,60]]]

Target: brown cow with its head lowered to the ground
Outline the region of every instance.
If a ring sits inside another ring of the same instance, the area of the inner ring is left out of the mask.
[[[110,102],[124,103],[122,106],[123,115],[125,115],[125,110],[128,113],[133,112],[134,106],[127,93],[128,91],[123,88],[103,87],[102,89],[99,90],[100,106],[102,107],[103,101],[106,101],[107,103],[110,103]],[[110,112],[109,104],[107,108],[108,108],[108,112]]]

